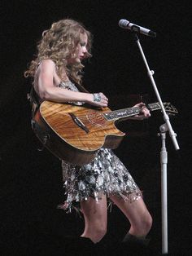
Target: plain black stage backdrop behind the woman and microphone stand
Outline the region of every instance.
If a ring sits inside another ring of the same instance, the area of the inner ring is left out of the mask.
[[[24,70],[36,53],[41,32],[54,21],[72,18],[94,34],[93,58],[85,64],[88,90],[103,91],[111,108],[124,108],[140,99],[155,102],[137,44],[120,19],[154,30],[157,38],[139,36],[146,60],[155,71],[163,101],[178,109],[173,130],[181,147],[175,152],[168,137],[168,245],[172,252],[190,251],[190,108],[191,108],[191,3],[189,1],[4,1],[1,8],[0,87],[0,230],[2,248],[15,248],[18,255],[37,245],[42,234],[78,236],[83,221],[76,214],[56,210],[64,200],[60,162],[40,146],[30,126],[27,93],[30,83]],[[161,247],[160,223],[160,113],[142,123],[125,121],[130,131],[116,154],[129,167],[144,191],[154,218],[151,236]],[[114,207],[109,214],[109,234],[120,239],[129,224]],[[38,237],[38,238],[37,238]],[[50,236],[49,236],[50,237]],[[41,241],[41,239],[40,239]],[[39,242],[40,243],[40,242]],[[190,253],[189,253],[190,254]],[[17,254],[15,254],[17,255]]]

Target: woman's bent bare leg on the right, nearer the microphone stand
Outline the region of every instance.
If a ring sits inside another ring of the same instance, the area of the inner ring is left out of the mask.
[[[110,196],[118,208],[129,219],[131,227],[129,233],[133,236],[145,237],[151,229],[152,218],[142,198],[130,203],[119,196]]]

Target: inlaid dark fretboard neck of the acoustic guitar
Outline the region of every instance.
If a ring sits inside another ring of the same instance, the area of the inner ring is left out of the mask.
[[[158,102],[153,104],[148,104],[147,108],[149,108],[150,111],[155,111],[160,109],[160,104]],[[109,113],[103,113],[103,116],[107,119],[107,121],[116,121],[120,119],[124,119],[127,117],[133,117],[137,114],[141,113],[141,108],[134,107],[134,108],[123,108],[111,111]]]

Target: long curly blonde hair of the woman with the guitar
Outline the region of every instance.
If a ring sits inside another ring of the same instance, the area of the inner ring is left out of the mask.
[[[29,64],[24,77],[34,77],[38,64],[41,60],[53,60],[57,73],[63,79],[63,68],[69,77],[81,84],[81,63],[68,65],[67,60],[76,51],[77,44],[81,41],[81,34],[88,38],[86,58],[91,57],[92,35],[84,25],[76,20],[59,20],[51,25],[50,29],[43,31],[41,41],[37,43],[36,59]]]

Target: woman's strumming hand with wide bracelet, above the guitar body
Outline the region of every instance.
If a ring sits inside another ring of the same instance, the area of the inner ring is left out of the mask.
[[[86,102],[97,107],[107,107],[108,105],[108,99],[103,92],[88,94]]]

